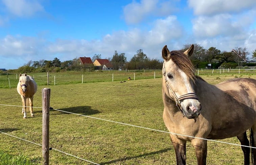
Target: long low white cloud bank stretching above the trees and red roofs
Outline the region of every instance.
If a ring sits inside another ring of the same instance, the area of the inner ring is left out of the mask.
[[[23,59],[16,61],[22,66],[29,60],[72,60],[75,57],[101,54],[102,58],[113,56],[115,50],[125,53],[130,60],[136,51],[143,49],[150,58],[161,58],[161,49],[164,45],[173,48],[183,35],[183,29],[176,16],[158,19],[149,31],[133,28],[129,31],[116,31],[107,34],[101,40],[84,39],[56,39],[49,42],[38,37],[24,37],[8,35],[0,40],[0,58],[13,56]]]

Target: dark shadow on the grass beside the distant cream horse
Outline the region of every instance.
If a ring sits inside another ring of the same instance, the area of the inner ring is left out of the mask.
[[[69,108],[62,108],[58,110],[61,110],[59,112],[61,112],[62,114],[78,113],[82,115],[93,115],[93,114],[100,113],[100,111],[98,110],[91,109],[91,106],[69,107]],[[62,112],[62,111],[66,111],[66,112]],[[67,113],[67,112],[71,112],[71,113]]]

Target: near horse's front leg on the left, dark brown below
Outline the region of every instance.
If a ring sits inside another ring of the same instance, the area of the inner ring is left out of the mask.
[[[186,164],[186,141],[180,140],[170,134],[171,142],[176,153],[177,165]]]

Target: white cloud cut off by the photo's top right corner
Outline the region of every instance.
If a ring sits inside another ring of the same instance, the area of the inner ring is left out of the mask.
[[[255,0],[188,0],[188,4],[194,9],[195,15],[235,13],[256,7]]]

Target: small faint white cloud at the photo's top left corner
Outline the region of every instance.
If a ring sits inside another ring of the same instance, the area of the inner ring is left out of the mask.
[[[30,17],[44,7],[36,0],[2,0],[8,11],[18,17]]]

